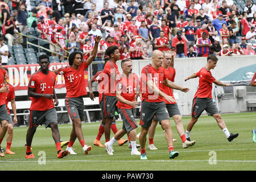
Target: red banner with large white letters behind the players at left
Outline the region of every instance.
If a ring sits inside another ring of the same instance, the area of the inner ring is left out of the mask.
[[[61,67],[66,67],[68,63],[51,63],[49,65],[49,70],[59,69]],[[15,90],[27,90],[28,82],[33,73],[38,71],[40,68],[39,64],[24,64],[24,65],[5,65],[9,71],[9,84],[14,86]],[[88,71],[85,71],[85,86],[88,86]],[[55,88],[65,87],[65,80],[63,75],[57,75]]]

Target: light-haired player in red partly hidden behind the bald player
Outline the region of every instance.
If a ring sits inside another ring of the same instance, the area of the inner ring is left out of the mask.
[[[176,71],[174,68],[175,52],[164,51],[163,56],[164,56],[164,59],[163,59],[164,71],[166,72],[168,80],[174,82],[174,78],[176,75]],[[166,93],[168,96],[174,97],[174,93],[172,92],[172,89],[166,85],[163,85],[163,92]],[[183,127],[179,107],[177,106],[177,102],[176,101],[175,102],[165,101],[165,102],[166,102],[166,108],[169,113],[169,117],[172,117],[175,121],[177,133],[179,133],[180,135],[180,138],[183,143],[183,148],[188,148],[190,146],[193,146],[196,143],[196,141],[189,142],[185,137],[184,127]],[[150,126],[150,129],[148,130],[148,140],[150,142],[148,144],[148,148],[150,150],[157,150],[157,148],[154,146],[154,140],[153,140],[154,134],[155,134],[155,128],[157,124],[158,124],[158,119],[154,118]]]

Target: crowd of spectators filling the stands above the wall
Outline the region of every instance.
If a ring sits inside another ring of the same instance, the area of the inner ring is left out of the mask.
[[[154,49],[172,49],[176,57],[255,54],[253,0],[243,8],[233,0],[10,1],[0,0],[1,34],[9,46],[22,44],[19,32],[33,27],[52,55],[80,50],[86,59],[94,36],[102,36],[96,61],[112,45],[121,59],[148,59]]]

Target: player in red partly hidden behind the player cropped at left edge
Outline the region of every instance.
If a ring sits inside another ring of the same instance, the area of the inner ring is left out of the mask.
[[[9,71],[7,68],[3,68],[3,69],[5,69],[6,71],[5,80],[3,81],[3,84],[9,86],[9,90],[5,92],[6,108],[9,114],[7,138],[6,138],[7,144],[6,144],[5,154],[15,154],[15,152],[11,151],[11,142],[13,142],[13,124],[16,124],[18,122],[17,115],[16,115],[15,93],[14,93],[14,86],[10,85],[7,82],[7,77],[9,77]],[[9,101],[11,101],[11,108],[13,109],[14,118],[11,118],[10,109],[7,106]]]

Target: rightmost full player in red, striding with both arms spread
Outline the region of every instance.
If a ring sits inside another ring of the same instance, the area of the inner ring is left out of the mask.
[[[190,141],[190,133],[193,126],[195,125],[204,110],[207,111],[208,115],[212,115],[212,117],[216,119],[218,126],[224,132],[229,142],[231,142],[234,138],[237,138],[238,136],[238,133],[229,133],[225,122],[222,120],[221,115],[212,100],[212,83],[220,86],[230,86],[230,84],[224,84],[221,81],[216,80],[212,76],[210,69],[214,69],[217,65],[217,62],[218,58],[216,56],[209,55],[207,57],[207,65],[205,65],[205,67],[201,68],[199,72],[193,73],[191,76],[185,78],[185,81],[187,81],[191,78],[199,77],[199,88],[197,89],[197,92],[193,98],[191,113],[192,118],[191,121],[188,123],[187,131],[185,133],[188,141]]]

